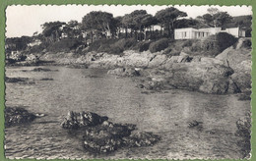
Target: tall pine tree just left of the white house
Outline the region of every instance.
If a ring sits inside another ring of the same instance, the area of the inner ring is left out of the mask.
[[[163,10],[160,10],[156,14],[156,19],[159,21],[161,27],[165,27],[168,30],[168,35],[174,37],[174,23],[177,19],[186,17],[187,14],[179,11],[174,7],[169,7]]]

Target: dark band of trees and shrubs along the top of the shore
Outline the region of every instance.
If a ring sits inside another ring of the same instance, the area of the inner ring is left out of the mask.
[[[6,39],[6,53],[22,51],[24,54],[42,52],[87,51],[120,54],[124,50],[176,54],[182,49],[188,53],[216,55],[236,39],[227,34],[211,35],[205,40],[176,40],[174,29],[180,27],[244,27],[250,36],[251,16],[231,17],[226,12],[210,8],[208,13],[196,19],[174,7],[160,10],[155,16],[146,10],[135,10],[123,17],[94,11],[83,17],[82,22],[49,22],[41,25],[42,32],[32,36]],[[158,25],[160,29],[154,29]],[[38,42],[38,43],[35,43]],[[248,42],[249,43],[249,42]],[[210,54],[211,52],[211,54]]]

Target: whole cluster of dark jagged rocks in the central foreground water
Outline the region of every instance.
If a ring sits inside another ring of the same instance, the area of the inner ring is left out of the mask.
[[[114,124],[92,112],[69,112],[61,124],[64,129],[81,128],[84,147],[96,153],[106,153],[120,147],[139,147],[155,144],[160,140],[157,134],[137,132],[135,125]]]

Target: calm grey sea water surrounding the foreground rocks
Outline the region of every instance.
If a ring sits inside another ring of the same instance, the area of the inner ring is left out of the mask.
[[[10,78],[35,83],[6,83],[6,105],[44,113],[32,124],[5,130],[8,158],[239,158],[235,122],[250,109],[235,95],[212,95],[186,90],[145,94],[129,78],[106,71],[42,67],[57,72],[24,72],[34,67],[8,67]],[[41,80],[41,79],[53,80]],[[82,140],[60,127],[69,110],[92,111],[115,123],[136,124],[141,131],[160,134],[154,146],[122,148],[92,155]],[[189,129],[188,122],[203,129]],[[211,133],[210,133],[211,132]]]

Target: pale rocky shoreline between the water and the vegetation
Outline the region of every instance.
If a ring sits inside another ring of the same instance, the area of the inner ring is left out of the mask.
[[[240,42],[242,43],[242,42]],[[162,52],[124,51],[123,54],[89,52],[44,53],[39,62],[50,65],[65,65],[71,68],[108,69],[108,74],[121,77],[145,76],[138,86],[146,89],[188,89],[204,93],[227,94],[245,93],[251,89],[251,49],[239,44],[230,46],[216,57],[191,56],[181,51],[179,55],[169,56]],[[30,58],[26,63],[34,65]],[[52,63],[54,62],[54,63]]]

